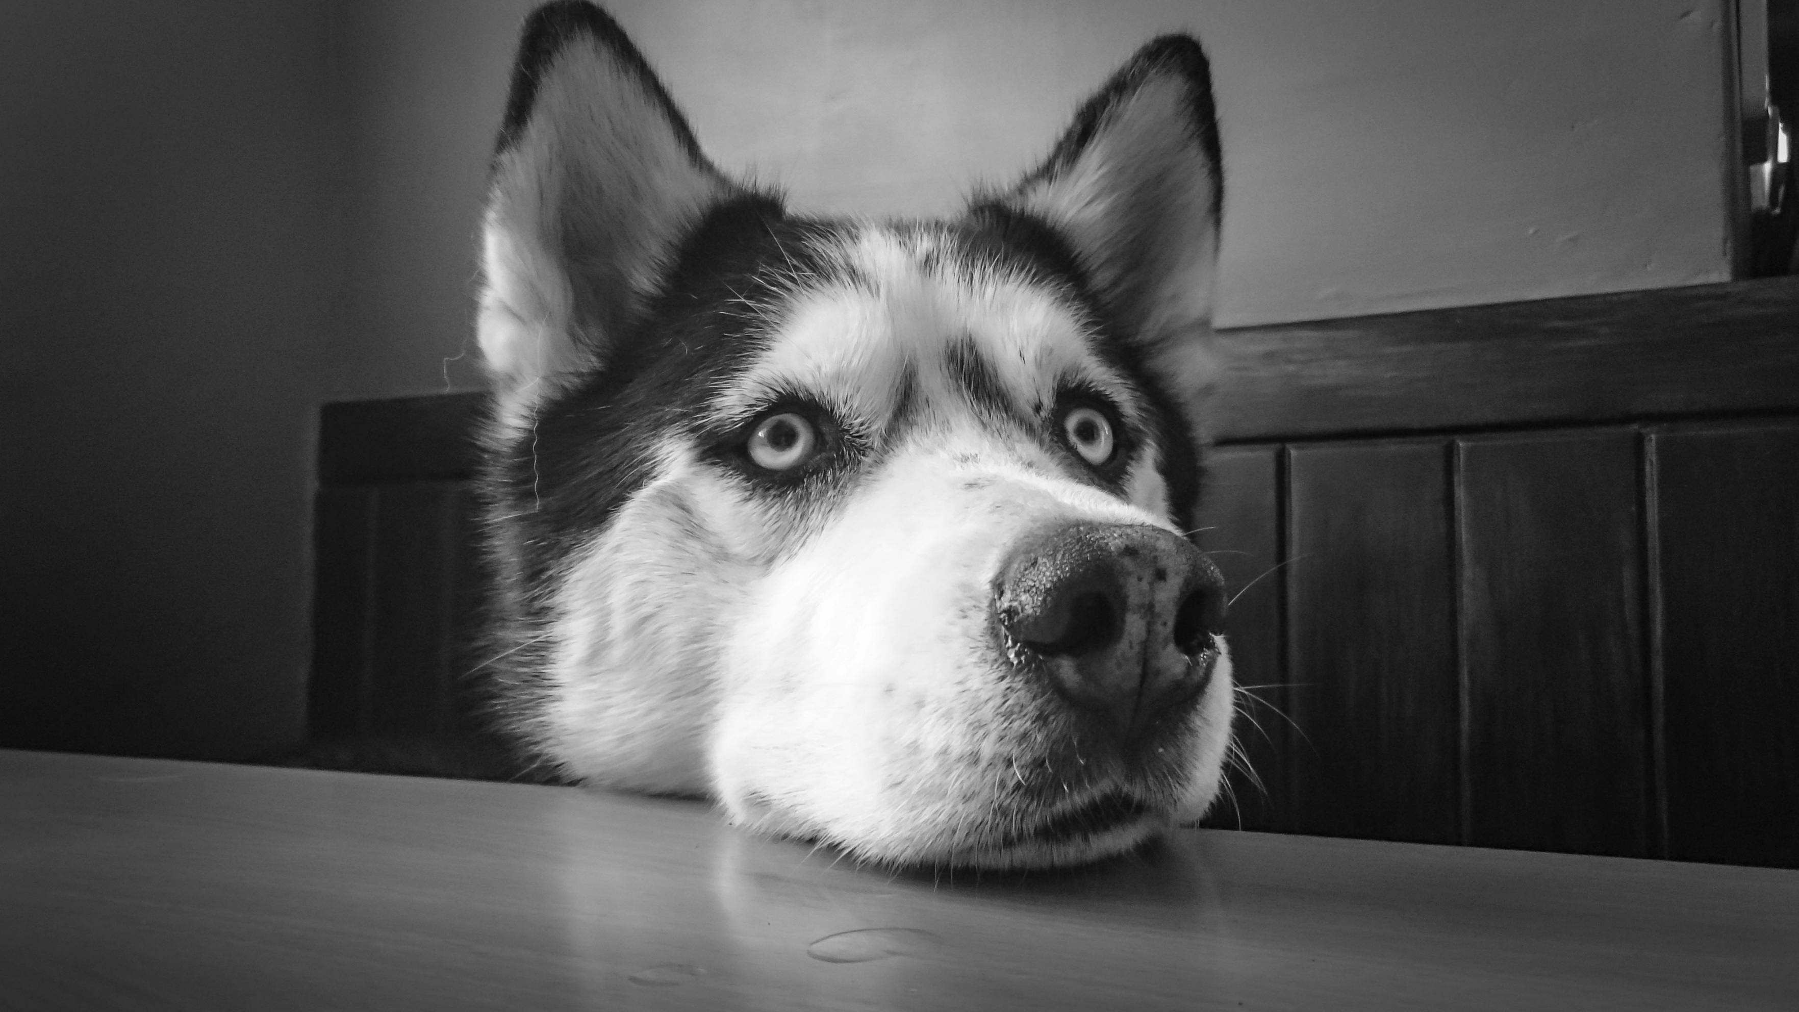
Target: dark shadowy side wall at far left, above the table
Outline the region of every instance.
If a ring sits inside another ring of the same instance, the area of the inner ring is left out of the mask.
[[[0,13],[0,746],[302,733],[335,13]]]

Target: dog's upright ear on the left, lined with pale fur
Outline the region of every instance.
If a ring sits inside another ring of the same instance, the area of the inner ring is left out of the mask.
[[[730,191],[610,16],[538,7],[482,223],[477,333],[502,406],[604,367],[685,228]]]

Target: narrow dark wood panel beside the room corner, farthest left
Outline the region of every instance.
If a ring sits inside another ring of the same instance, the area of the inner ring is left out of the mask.
[[[313,676],[308,733],[360,733],[374,617],[374,491],[320,489],[313,500]]]

